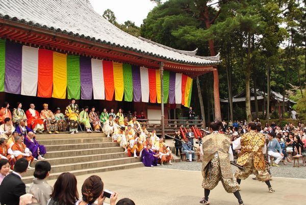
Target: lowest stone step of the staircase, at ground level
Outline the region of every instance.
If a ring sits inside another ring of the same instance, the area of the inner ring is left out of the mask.
[[[132,169],[132,168],[138,168],[143,167],[142,162],[133,162],[133,163],[126,163],[126,164],[119,164],[119,165],[112,165],[112,166],[104,166],[104,167],[96,167],[96,168],[89,168],[89,169],[81,169],[81,170],[73,170],[69,171],[70,173],[74,174],[75,176],[83,175],[83,174],[90,174],[90,173],[97,173],[97,172],[106,172],[106,171],[115,171],[115,170],[121,170],[121,169]],[[52,171],[52,170],[51,170]],[[131,173],[133,171],[131,170]],[[56,172],[56,173],[50,173],[48,180],[56,180],[57,177],[62,172]],[[22,177],[22,181],[25,184],[29,184],[33,182],[33,174]]]

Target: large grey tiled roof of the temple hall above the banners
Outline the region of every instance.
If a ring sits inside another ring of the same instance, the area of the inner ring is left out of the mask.
[[[219,56],[200,57],[127,34],[97,14],[88,0],[0,0],[0,18],[33,25],[148,56],[191,65],[218,65]]]

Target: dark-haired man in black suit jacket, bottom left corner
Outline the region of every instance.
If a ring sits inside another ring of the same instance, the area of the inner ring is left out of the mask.
[[[6,205],[18,205],[19,197],[25,192],[25,184],[21,181],[23,175],[28,169],[28,161],[21,158],[16,161],[14,171],[7,175],[0,185],[0,203]]]

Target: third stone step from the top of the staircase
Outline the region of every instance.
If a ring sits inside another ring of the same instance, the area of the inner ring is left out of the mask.
[[[105,147],[118,147],[116,142],[99,142],[99,143],[80,143],[80,144],[58,144],[58,145],[46,145],[45,148],[48,151],[57,150],[72,150],[72,149],[90,149],[90,148],[105,148]]]

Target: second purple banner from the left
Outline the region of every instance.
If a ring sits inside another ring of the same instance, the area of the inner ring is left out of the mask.
[[[91,59],[80,56],[81,99],[92,99]]]

